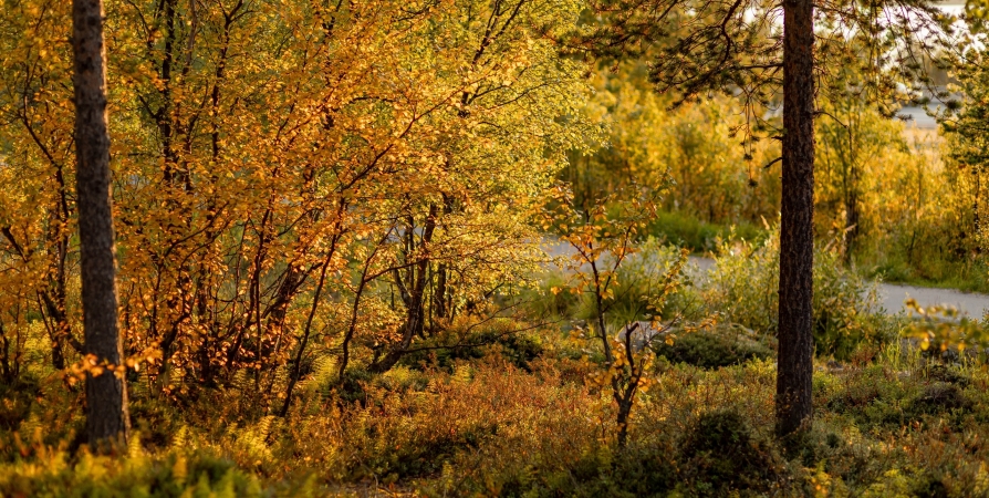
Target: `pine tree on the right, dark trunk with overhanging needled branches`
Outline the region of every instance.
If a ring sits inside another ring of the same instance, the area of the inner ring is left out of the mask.
[[[905,97],[898,89],[929,84],[923,61],[950,50],[954,18],[924,0],[602,0],[594,7],[601,15],[580,39],[583,49],[649,58],[657,90],[676,93],[678,103],[714,91],[737,96],[746,120],[732,133],[748,151],[761,138],[781,141],[782,157],[766,165],[783,163],[777,429],[788,435],[808,426],[815,100],[867,93],[892,116]],[[849,66],[862,81],[832,77]],[[773,112],[781,106],[782,126]]]

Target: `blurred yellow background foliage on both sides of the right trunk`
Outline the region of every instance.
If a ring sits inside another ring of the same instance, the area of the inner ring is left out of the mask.
[[[868,277],[989,289],[971,208],[979,190],[968,169],[952,164],[957,141],[949,134],[945,144],[889,120],[867,95],[847,91],[861,77],[854,68],[836,68],[831,77],[837,86],[816,120],[816,238],[837,239],[842,260]],[[742,123],[737,103],[716,97],[670,110],[672,97],[650,92],[634,60],[598,68],[592,83],[587,112],[611,127],[602,148],[571,154],[561,173],[579,205],[632,183],[663,187],[647,234],[701,252],[716,250],[719,236],[763,239],[762,219],[780,209],[772,163],[779,151],[763,141],[750,144],[746,157],[729,137]]]

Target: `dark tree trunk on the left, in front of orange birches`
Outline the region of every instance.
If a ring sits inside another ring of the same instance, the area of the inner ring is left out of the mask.
[[[121,365],[116,262],[111,211],[106,51],[102,0],[72,3],[75,55],[75,147],[84,351]],[[91,445],[123,443],[128,432],[127,388],[112,371],[86,376],[86,434]]]

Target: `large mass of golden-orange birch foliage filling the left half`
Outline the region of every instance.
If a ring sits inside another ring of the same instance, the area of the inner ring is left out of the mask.
[[[244,372],[287,407],[312,354],[386,371],[525,281],[532,212],[600,135],[554,40],[579,2],[200,3],[106,7],[125,355],[153,388]],[[8,381],[32,328],[79,360],[67,14],[0,13]]]

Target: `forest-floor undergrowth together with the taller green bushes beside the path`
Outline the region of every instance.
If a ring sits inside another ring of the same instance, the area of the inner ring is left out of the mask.
[[[718,273],[670,298],[665,313],[717,321],[652,343],[624,447],[584,297],[551,292],[556,274],[519,297],[528,315],[436,332],[386,373],[358,363],[340,378],[335,355],[308,359],[284,417],[248,372],[170,394],[137,376],[134,435],[113,456],[80,444],[79,387],[27,372],[0,386],[0,496],[989,494],[989,371],[899,339],[904,322],[875,314],[845,270],[815,269],[813,426],[773,435],[774,304],[758,292],[773,243],[726,249]],[[645,247],[618,276],[629,310],[647,294],[635,269],[673,255]]]

